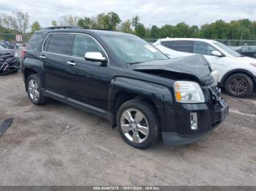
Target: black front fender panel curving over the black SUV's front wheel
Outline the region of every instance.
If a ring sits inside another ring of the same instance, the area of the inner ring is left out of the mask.
[[[133,94],[152,101],[157,107],[159,116],[164,112],[165,107],[173,105],[173,95],[164,85],[129,77],[115,77],[110,82],[108,95],[108,112],[112,114],[108,116],[108,120],[112,121],[112,124],[115,124],[116,119],[115,104],[118,93]]]

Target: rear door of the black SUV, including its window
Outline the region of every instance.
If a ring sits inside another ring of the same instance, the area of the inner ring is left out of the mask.
[[[45,86],[48,93],[67,95],[67,61],[72,52],[72,34],[49,34],[42,58],[45,61]]]

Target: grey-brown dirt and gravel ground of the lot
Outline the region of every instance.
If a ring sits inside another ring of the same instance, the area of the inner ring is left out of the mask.
[[[224,95],[230,115],[205,139],[129,147],[101,118],[52,101],[34,106],[21,74],[0,77],[0,185],[256,185],[256,95]]]

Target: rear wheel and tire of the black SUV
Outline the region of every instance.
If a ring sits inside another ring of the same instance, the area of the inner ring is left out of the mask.
[[[26,87],[28,89],[28,95],[33,104],[41,106],[48,102],[42,94],[41,82],[37,74],[31,74],[26,80]]]

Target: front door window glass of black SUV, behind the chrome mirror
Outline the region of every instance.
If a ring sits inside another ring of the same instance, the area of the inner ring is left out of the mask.
[[[72,47],[72,56],[84,58],[86,52],[101,52],[105,55],[102,48],[90,36],[76,34]]]

